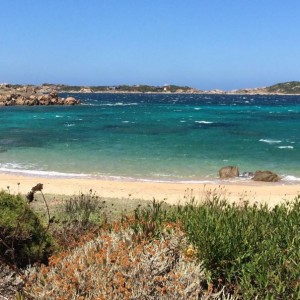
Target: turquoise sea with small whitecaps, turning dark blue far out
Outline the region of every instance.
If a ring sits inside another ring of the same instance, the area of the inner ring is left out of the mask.
[[[214,181],[238,165],[300,178],[299,96],[75,97],[83,104],[1,107],[0,171]]]

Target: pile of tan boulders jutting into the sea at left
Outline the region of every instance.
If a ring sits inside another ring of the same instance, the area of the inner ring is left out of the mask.
[[[12,93],[12,94],[0,94],[0,106],[12,106],[12,105],[75,105],[80,101],[67,97],[66,99],[58,97],[56,92],[49,94],[28,94],[28,93]]]

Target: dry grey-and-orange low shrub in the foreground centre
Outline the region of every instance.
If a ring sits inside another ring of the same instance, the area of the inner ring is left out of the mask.
[[[132,229],[98,238],[31,269],[26,295],[34,299],[197,299],[201,264],[185,254],[181,231],[138,241]],[[138,242],[137,242],[138,241]]]

